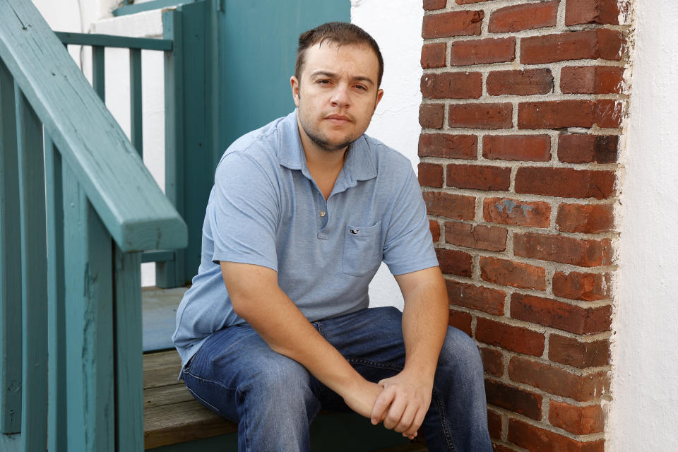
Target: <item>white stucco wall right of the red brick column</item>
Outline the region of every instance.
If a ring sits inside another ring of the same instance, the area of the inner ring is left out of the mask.
[[[607,426],[611,452],[678,447],[676,23],[676,1],[636,1]]]

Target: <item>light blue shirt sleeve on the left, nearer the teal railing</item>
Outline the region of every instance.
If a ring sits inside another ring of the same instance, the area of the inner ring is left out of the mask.
[[[244,153],[225,155],[208,208],[213,262],[251,263],[278,271],[279,213],[278,190],[261,165]]]

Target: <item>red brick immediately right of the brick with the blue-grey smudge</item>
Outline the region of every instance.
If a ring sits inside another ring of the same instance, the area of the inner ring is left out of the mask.
[[[614,213],[610,204],[566,204],[558,207],[556,224],[564,232],[595,234],[614,227]]]

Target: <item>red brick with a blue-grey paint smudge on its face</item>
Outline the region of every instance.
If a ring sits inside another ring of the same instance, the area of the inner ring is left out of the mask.
[[[504,225],[549,227],[551,205],[542,201],[485,198],[482,201],[482,218],[487,222]]]

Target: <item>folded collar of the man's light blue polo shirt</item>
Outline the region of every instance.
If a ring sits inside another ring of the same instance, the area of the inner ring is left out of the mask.
[[[302,148],[302,139],[299,137],[297,109],[288,114],[283,121],[280,121],[278,162],[286,168],[299,169],[304,176],[311,179],[311,174],[306,165],[304,148]],[[365,135],[362,135],[349,146],[341,172],[343,179],[345,179],[346,188],[355,186],[357,181],[366,181],[376,177],[376,158]],[[341,179],[341,175],[339,179]]]

